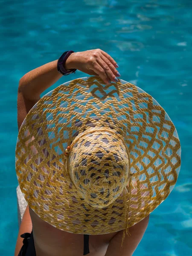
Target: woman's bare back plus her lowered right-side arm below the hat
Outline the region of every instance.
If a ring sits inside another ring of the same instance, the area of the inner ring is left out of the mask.
[[[43,221],[29,208],[32,219],[36,256],[82,256],[82,234],[73,234],[59,230]],[[131,256],[145,233],[148,218],[129,228],[130,237],[126,237],[120,248],[123,230],[119,232],[89,236],[89,256]],[[129,240],[129,242],[128,242]],[[131,241],[132,240],[132,241]],[[129,244],[129,246],[128,246]],[[125,253],[125,254],[124,254]]]

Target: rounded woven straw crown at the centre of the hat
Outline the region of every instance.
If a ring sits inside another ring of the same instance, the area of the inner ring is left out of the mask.
[[[110,205],[127,183],[127,148],[121,136],[108,127],[90,128],[79,134],[68,165],[74,185],[94,208]]]

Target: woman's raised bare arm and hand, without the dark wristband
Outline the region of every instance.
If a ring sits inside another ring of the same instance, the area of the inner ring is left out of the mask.
[[[65,64],[66,70],[75,68],[89,75],[99,75],[107,84],[109,79],[116,81],[116,76],[120,76],[115,67],[117,67],[116,61],[101,49],[73,52]],[[20,79],[17,96],[18,129],[27,113],[40,99],[41,93],[61,77],[56,60],[26,73]]]

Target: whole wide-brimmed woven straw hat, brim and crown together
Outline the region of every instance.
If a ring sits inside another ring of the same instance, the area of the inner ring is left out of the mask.
[[[60,85],[29,111],[18,134],[16,172],[29,207],[71,233],[133,226],[167,198],[179,170],[169,116],[121,79]]]

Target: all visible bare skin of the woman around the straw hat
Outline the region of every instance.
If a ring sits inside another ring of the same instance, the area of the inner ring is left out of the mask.
[[[40,99],[41,93],[62,77],[57,69],[58,60],[49,62],[26,73],[19,82],[17,98],[18,129],[27,113]],[[78,69],[84,73],[100,78],[109,84],[120,76],[116,70],[116,61],[101,49],[73,52],[67,58],[66,70]],[[140,243],[149,221],[149,215],[129,228],[131,236],[126,236],[121,248],[123,230],[104,235],[90,236],[90,256],[131,256]],[[37,256],[73,256],[82,255],[83,235],[59,230],[43,221],[29,207],[23,215],[15,248],[18,255],[22,245],[23,233],[31,233],[33,229],[35,252]],[[35,252],[30,255],[35,255]],[[25,255],[25,254],[21,254]],[[29,255],[29,254],[26,254]]]

